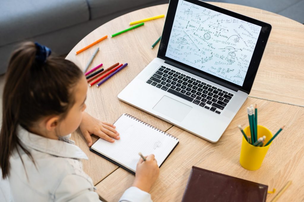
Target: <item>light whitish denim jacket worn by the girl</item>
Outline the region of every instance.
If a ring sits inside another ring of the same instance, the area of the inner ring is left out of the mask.
[[[53,140],[19,126],[18,137],[36,166],[20,147],[24,166],[17,150],[13,151],[8,180],[14,201],[100,201],[92,179],[82,170],[80,159],[88,157],[69,140],[71,134]],[[149,193],[130,187],[119,201],[152,200]]]

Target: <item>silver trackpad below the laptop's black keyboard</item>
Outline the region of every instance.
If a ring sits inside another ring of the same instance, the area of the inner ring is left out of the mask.
[[[177,121],[183,121],[185,116],[191,111],[192,107],[187,104],[181,103],[177,100],[164,96],[153,108],[170,118],[174,118]]]

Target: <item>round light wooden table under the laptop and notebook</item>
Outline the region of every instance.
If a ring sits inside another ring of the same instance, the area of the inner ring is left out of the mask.
[[[293,180],[279,201],[304,200],[304,193],[299,191],[304,187],[301,180],[304,179],[304,144],[299,141],[304,132],[304,108],[288,105],[304,105],[304,25],[256,8],[226,3],[212,4],[272,25],[271,35],[250,92],[250,96],[254,98],[247,99],[218,143],[204,141],[117,99],[117,94],[157,56],[158,45],[152,50],[150,46],[161,35],[164,18],[146,22],[140,28],[108,38],[79,55],[74,54],[104,35],[128,28],[128,23],[133,20],[166,14],[168,5],[140,9],[113,19],[92,31],[67,55],[67,59],[83,69],[95,48],[99,47],[100,51],[90,67],[100,63],[105,68],[116,62],[129,64],[101,87],[89,88],[87,111],[96,118],[109,122],[114,122],[123,113],[129,113],[179,137],[180,144],[162,165],[160,177],[151,190],[154,201],[180,201],[192,165],[267,184],[269,189],[280,190],[288,180]],[[257,171],[247,171],[239,164],[242,136],[237,125],[248,124],[245,108],[250,104],[258,104],[259,122],[272,132],[286,125]],[[108,201],[117,201],[132,184],[134,176],[90,152],[80,131],[76,131],[72,138],[90,159],[84,161],[84,170],[92,177],[98,193]],[[268,201],[274,195],[268,195]]]

